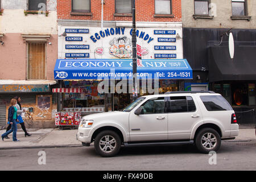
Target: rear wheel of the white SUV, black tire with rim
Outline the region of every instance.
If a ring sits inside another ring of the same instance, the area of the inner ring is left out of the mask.
[[[208,154],[217,151],[221,146],[221,138],[218,132],[212,128],[204,128],[196,135],[196,147],[200,152]]]

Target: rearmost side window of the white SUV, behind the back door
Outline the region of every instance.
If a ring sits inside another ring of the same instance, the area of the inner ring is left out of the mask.
[[[208,111],[233,110],[222,96],[200,96]]]

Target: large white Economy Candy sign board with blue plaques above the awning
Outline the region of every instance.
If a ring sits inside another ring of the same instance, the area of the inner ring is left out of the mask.
[[[170,26],[170,25],[169,25]],[[85,26],[84,26],[85,27]],[[132,59],[133,47],[130,27],[85,27],[59,26],[60,32],[67,32],[68,36],[59,36],[60,59],[88,58],[88,55],[71,56],[67,53],[89,53],[94,59]],[[88,32],[88,33],[86,33]],[[171,27],[139,27],[136,30],[137,44],[141,46],[142,59],[154,59],[155,54],[174,54],[176,56],[157,56],[158,58],[183,59],[182,39],[175,35],[182,35],[182,26],[173,24]],[[67,42],[66,42],[67,39]],[[82,41],[81,41],[82,40]],[[86,41],[85,41],[86,40]],[[71,41],[74,43],[68,44]],[[66,43],[66,44],[65,44]],[[168,44],[166,44],[168,43]],[[85,45],[86,44],[86,45]],[[76,51],[68,51],[75,49]],[[84,51],[84,50],[88,51]],[[164,51],[164,52],[158,52]],[[85,57],[84,57],[85,56]]]

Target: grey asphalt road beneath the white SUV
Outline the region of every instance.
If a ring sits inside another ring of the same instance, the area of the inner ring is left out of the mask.
[[[101,158],[94,147],[0,150],[0,170],[256,170],[255,151],[256,140],[223,141],[216,155],[193,146],[123,147],[113,158]]]

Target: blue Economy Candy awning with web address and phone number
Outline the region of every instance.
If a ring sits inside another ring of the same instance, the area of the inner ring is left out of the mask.
[[[132,79],[131,59],[57,59],[55,80]],[[137,67],[142,79],[192,79],[192,69],[186,59],[142,60]]]

